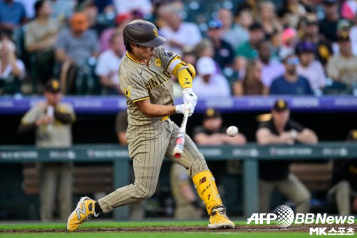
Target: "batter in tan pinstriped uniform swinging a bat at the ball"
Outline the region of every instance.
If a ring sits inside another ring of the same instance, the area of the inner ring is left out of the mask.
[[[67,230],[77,230],[80,224],[100,212],[106,214],[116,207],[150,198],[155,192],[164,157],[188,170],[210,215],[208,228],[234,228],[222,206],[215,179],[190,137],[185,137],[181,158],[172,155],[179,127],[169,115],[184,114],[186,110],[190,115],[194,112],[197,104],[197,96],[192,91],[195,68],[162,47],[165,38],[158,35],[158,29],[151,22],[130,22],[123,29],[123,38],[127,52],[119,66],[119,84],[128,105],[126,136],[135,182],[98,201],[81,198],[68,217]],[[172,74],[183,87],[184,104],[174,105]]]

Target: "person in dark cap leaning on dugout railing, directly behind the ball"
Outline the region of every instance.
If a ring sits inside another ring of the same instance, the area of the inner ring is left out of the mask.
[[[247,140],[242,133],[231,137],[226,134],[227,128],[222,127],[223,119],[217,110],[208,108],[204,113],[202,126],[197,126],[193,130],[193,140],[199,145],[241,145]]]

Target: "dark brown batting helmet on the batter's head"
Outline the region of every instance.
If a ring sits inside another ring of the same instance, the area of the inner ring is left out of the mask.
[[[144,20],[134,20],[123,29],[124,45],[135,43],[146,47],[163,45],[165,38],[159,36],[154,24]]]

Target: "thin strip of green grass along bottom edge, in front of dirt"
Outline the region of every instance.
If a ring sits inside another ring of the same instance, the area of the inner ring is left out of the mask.
[[[291,237],[291,238],[301,238],[301,237],[310,237],[310,235],[306,233],[77,233],[77,234],[50,234],[50,233],[41,233],[41,234],[5,234],[5,236],[0,234],[0,237],[9,237],[9,238],[37,238],[37,237],[54,237],[54,238],[90,238],[90,237],[95,237],[95,238],[149,238],[149,237],[155,237],[155,238],[206,238],[206,237],[248,237],[248,238],[285,238],[285,237]]]

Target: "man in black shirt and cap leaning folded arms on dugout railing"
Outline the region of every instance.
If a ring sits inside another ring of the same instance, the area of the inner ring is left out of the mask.
[[[268,144],[317,144],[314,131],[290,119],[287,101],[275,101],[271,109],[271,119],[261,122],[257,130],[257,142]],[[271,195],[278,190],[295,203],[296,213],[306,214],[310,209],[310,191],[291,172],[290,161],[259,162],[259,212],[271,211]]]

